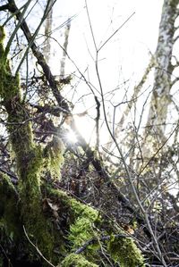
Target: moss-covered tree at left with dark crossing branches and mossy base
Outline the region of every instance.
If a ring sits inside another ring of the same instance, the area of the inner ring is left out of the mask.
[[[60,176],[64,160],[62,140],[57,134],[57,130],[62,131],[62,126],[55,127],[47,114],[55,114],[65,120],[67,116],[72,116],[71,108],[61,95],[63,83],[57,84],[44,55],[35,43],[38,30],[55,1],[47,1],[42,19],[33,35],[24,19],[30,2],[27,1],[20,9],[13,0],[9,0],[0,7],[1,11],[12,14],[7,21],[13,20],[13,16],[18,21],[5,47],[5,25],[0,27],[0,97],[15,173],[13,175],[1,171],[0,174],[1,266],[9,264],[6,262],[18,266],[28,263],[38,263],[40,266],[98,266],[113,263],[120,263],[120,266],[143,266],[141,251],[132,238],[124,234],[122,229],[114,227],[112,221],[97,210],[81,204],[57,188],[55,180]],[[14,71],[8,56],[19,29],[22,30],[28,47]],[[28,58],[30,49],[41,67],[42,76],[34,75],[30,81],[27,71],[24,86],[19,71],[25,57]],[[31,86],[37,82],[37,99],[40,94],[43,95],[43,89],[50,88],[55,106],[45,100],[41,105],[30,103],[26,91],[29,82]],[[38,87],[43,88],[41,92]],[[35,119],[33,115],[36,113],[40,116]],[[48,139],[46,135],[38,138],[36,131],[43,127],[51,129],[51,138]],[[88,147],[84,141],[83,146]],[[94,157],[90,148],[87,153]],[[93,163],[100,167],[95,157]]]

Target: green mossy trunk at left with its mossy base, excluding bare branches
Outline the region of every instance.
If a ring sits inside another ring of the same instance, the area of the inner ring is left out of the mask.
[[[53,146],[45,148],[34,141],[19,75],[12,74],[3,41],[4,29],[0,27],[0,97],[8,116],[18,184],[13,186],[6,175],[0,174],[0,241],[4,249],[0,258],[6,255],[12,263],[27,258],[27,262],[38,261],[42,266],[98,266],[104,261],[100,256],[100,247],[104,246],[109,262],[143,266],[143,257],[132,238],[115,238],[116,233],[123,234],[120,229],[46,182],[47,172],[51,179],[59,172],[62,146],[58,138],[54,138]],[[111,238],[100,239],[101,229]],[[96,242],[77,253],[91,238]]]

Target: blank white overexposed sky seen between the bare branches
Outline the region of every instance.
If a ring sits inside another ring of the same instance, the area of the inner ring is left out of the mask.
[[[129,87],[133,88],[148,66],[149,53],[155,52],[163,0],[88,0],[87,4],[97,46],[103,44],[132,13],[135,13],[100,51],[98,63],[104,92],[113,90],[127,79],[130,80]],[[54,8],[54,21],[59,25],[77,14],[72,21],[68,53],[81,72],[88,67],[88,78],[98,88],[95,64],[92,59],[95,57],[95,48],[87,11],[84,7],[84,0],[57,0]],[[62,34],[62,29],[60,32]],[[60,32],[55,32],[55,38],[63,45],[64,41],[60,37]],[[55,56],[52,59],[52,70],[55,74],[59,74],[61,59],[61,54],[58,57],[57,51],[59,51],[59,46],[56,46]],[[65,71],[71,73],[75,71],[75,68],[69,63],[66,65]],[[87,93],[83,87],[84,85],[81,85],[80,95],[76,94],[77,98]],[[115,96],[118,102],[120,94],[121,92]],[[94,103],[94,97],[88,96],[84,106],[76,105],[75,112],[80,113],[85,108],[90,108],[90,99]],[[91,108],[91,112],[96,113],[94,106]],[[84,131],[83,135],[86,136],[85,130],[88,126],[84,127],[84,122],[85,120],[81,122],[81,131]]]

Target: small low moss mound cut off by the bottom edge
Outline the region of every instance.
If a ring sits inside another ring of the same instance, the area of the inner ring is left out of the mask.
[[[64,258],[64,261],[57,267],[98,267],[95,263],[90,263],[81,254],[69,254]]]

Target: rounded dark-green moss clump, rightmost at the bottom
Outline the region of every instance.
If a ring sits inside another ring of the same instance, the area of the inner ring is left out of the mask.
[[[107,243],[107,251],[121,267],[145,266],[143,256],[132,238],[111,238]]]

